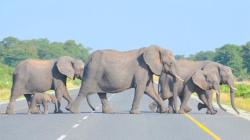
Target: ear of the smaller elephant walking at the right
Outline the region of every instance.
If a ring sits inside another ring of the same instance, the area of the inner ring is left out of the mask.
[[[194,75],[192,76],[192,80],[194,84],[196,84],[201,89],[203,90],[209,89],[209,85],[207,83],[204,71],[198,70],[197,72],[195,72]]]

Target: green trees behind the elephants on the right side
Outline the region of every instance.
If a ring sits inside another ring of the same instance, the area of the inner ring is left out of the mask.
[[[177,59],[185,58],[177,55]],[[215,51],[201,51],[190,55],[191,60],[212,60],[232,68],[238,80],[250,78],[250,42],[245,45],[226,44]]]

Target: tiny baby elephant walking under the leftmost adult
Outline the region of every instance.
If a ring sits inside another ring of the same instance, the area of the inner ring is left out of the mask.
[[[48,103],[55,105],[54,113],[57,112],[57,99],[55,96],[44,93],[36,93],[32,96],[28,114],[40,112],[40,105],[44,108],[44,114],[48,114]]]

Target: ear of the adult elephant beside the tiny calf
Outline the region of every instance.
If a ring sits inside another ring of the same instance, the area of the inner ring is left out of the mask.
[[[72,57],[63,56],[58,59],[56,64],[59,72],[71,79],[73,79],[75,75],[75,71],[72,66],[72,61],[73,61]]]

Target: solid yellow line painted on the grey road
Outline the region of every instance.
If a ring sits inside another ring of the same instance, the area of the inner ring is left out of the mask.
[[[221,138],[219,136],[217,136],[216,134],[214,134],[211,130],[209,130],[205,125],[203,125],[201,122],[199,122],[198,120],[196,120],[195,118],[193,118],[191,115],[189,114],[184,114],[184,116],[186,118],[188,118],[189,120],[191,120],[194,124],[196,124],[201,130],[203,130],[204,132],[206,132],[208,135],[210,135],[214,140],[221,140]]]

